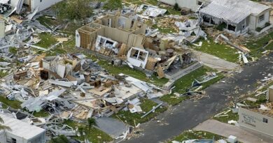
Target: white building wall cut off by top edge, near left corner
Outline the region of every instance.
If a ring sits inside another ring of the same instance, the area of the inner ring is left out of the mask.
[[[62,1],[62,0],[31,0],[31,11],[34,11],[35,8],[39,6],[38,12],[49,8],[50,6],[54,5],[55,3]]]

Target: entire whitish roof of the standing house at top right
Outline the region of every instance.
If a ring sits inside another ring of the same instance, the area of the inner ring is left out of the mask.
[[[200,13],[221,18],[232,23],[239,23],[248,15],[258,15],[270,9],[269,6],[249,0],[211,0],[212,2],[202,8]]]

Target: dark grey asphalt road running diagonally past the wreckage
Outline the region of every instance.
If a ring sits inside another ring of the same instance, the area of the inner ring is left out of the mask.
[[[225,82],[209,86],[206,89],[209,98],[198,102],[183,101],[181,104],[171,107],[167,112],[160,114],[155,121],[142,124],[144,135],[124,142],[164,142],[179,135],[183,130],[194,128],[227,107],[229,102],[227,95],[236,96],[254,91],[257,80],[263,79],[268,73],[273,74],[273,53],[251,66],[245,66],[241,73],[234,73],[233,77],[225,78]],[[235,93],[237,86],[239,93]],[[163,123],[158,123],[157,120],[162,120]],[[162,124],[165,126],[160,126]]]

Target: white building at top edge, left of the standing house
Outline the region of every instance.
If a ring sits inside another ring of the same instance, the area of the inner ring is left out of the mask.
[[[167,3],[169,5],[174,6],[175,3],[179,4],[179,7],[190,8],[192,11],[196,11],[198,6],[198,0],[160,0],[162,3]]]

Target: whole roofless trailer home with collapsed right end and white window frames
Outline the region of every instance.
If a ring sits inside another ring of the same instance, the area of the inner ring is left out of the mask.
[[[131,68],[156,72],[160,78],[172,80],[201,66],[190,50],[179,46],[181,40],[176,40],[177,36],[164,36],[157,29],[149,29],[140,18],[109,13],[76,30],[76,47],[90,50],[116,66],[124,62]]]

